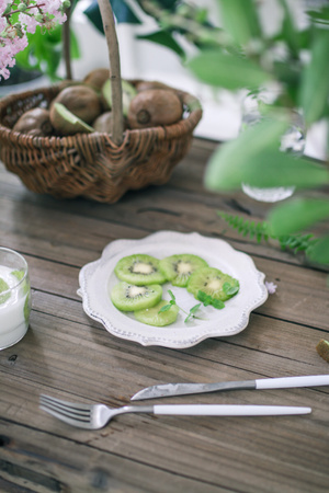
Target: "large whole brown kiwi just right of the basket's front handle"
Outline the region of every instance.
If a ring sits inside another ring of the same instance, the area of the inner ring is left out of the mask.
[[[131,102],[127,115],[131,128],[172,125],[182,118],[183,106],[174,91],[148,89]]]

